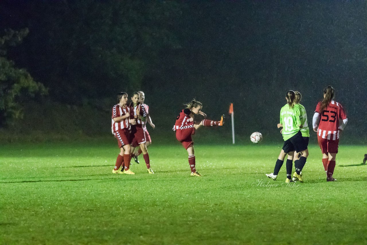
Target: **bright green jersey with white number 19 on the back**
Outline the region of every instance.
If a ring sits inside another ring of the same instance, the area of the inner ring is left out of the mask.
[[[297,134],[300,130],[298,126],[302,125],[300,116],[301,110],[299,107],[290,108],[286,104],[280,109],[280,124],[283,125],[281,134],[283,134],[284,141]]]

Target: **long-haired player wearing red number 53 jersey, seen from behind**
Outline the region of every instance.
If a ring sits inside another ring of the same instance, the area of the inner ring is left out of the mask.
[[[342,105],[333,100],[334,94],[333,87],[327,86],[324,89],[324,98],[317,104],[312,120],[313,131],[317,132],[317,141],[323,154],[322,163],[327,181],[336,181],[333,173],[339,147],[339,132],[344,130],[348,122]],[[341,125],[339,119],[342,119]]]

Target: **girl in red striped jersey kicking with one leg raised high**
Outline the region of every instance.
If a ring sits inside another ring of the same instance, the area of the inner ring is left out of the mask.
[[[206,117],[206,114],[201,111],[203,104],[194,99],[185,105],[186,109],[183,109],[177,116],[173,130],[176,132],[177,140],[182,143],[189,154],[191,176],[201,176],[195,169],[194,142],[191,135],[195,134],[195,130],[200,126],[223,126],[224,115],[220,121],[203,119]]]

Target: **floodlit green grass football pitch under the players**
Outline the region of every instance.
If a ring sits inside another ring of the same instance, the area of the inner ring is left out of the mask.
[[[1,146],[0,244],[367,244],[366,147],[341,145],[327,183],[311,145],[285,186],[265,176],[279,145],[196,144],[189,177],[178,143],[152,145],[154,175],[113,175],[115,144]]]

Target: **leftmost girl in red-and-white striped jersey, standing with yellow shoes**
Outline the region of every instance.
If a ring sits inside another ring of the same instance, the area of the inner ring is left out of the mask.
[[[119,104],[112,108],[112,133],[117,139],[120,148],[120,154],[117,156],[115,168],[112,173],[135,174],[130,167],[130,130],[131,125],[135,125],[135,119],[131,117],[131,108],[127,106],[127,93],[117,94]],[[124,163],[124,165],[123,165]],[[123,171],[120,166],[123,165]]]

